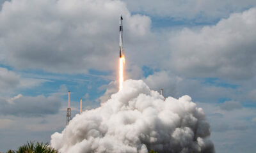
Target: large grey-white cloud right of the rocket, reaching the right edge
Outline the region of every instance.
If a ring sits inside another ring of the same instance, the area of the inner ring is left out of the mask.
[[[166,65],[190,77],[252,78],[255,75],[256,8],[213,26],[183,29],[170,38]],[[184,45],[186,43],[186,45]]]

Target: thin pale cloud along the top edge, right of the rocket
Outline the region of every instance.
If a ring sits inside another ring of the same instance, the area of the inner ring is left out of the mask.
[[[196,22],[212,22],[227,17],[230,13],[243,11],[256,6],[253,0],[221,1],[221,0],[124,0],[129,10],[146,13],[154,17],[174,18],[175,20],[196,20]]]

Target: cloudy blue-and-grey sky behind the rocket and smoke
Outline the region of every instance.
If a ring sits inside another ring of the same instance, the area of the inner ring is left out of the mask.
[[[204,109],[216,152],[255,152],[256,1],[0,0],[0,151],[49,142],[126,79]]]

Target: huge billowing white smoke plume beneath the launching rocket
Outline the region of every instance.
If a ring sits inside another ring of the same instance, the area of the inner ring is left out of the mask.
[[[189,96],[179,99],[150,91],[142,80],[124,88],[102,106],[76,115],[62,133],[52,135],[60,152],[214,152],[202,108]]]

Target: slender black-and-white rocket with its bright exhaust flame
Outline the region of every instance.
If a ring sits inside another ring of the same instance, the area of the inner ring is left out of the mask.
[[[124,47],[123,47],[123,17],[122,17],[122,15],[120,15],[120,22],[119,22],[119,90],[122,90],[122,88],[123,88],[124,64],[125,64],[125,57],[124,57]]]

